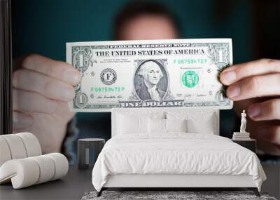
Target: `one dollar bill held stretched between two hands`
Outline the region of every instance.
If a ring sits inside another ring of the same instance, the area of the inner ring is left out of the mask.
[[[72,112],[116,107],[231,109],[220,72],[232,65],[231,39],[90,41],[66,44],[81,81]]]

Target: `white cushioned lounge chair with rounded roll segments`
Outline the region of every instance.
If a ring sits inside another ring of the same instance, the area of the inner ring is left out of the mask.
[[[69,164],[63,154],[42,155],[35,135],[0,135],[0,184],[12,182],[14,189],[62,178]]]

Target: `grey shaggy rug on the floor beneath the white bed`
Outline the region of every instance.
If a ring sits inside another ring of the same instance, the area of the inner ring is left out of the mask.
[[[194,189],[195,190],[195,189]],[[267,193],[260,193],[261,196],[255,196],[252,191],[104,191],[102,196],[97,197],[97,192],[85,192],[82,200],[122,200],[122,199],[262,199],[276,200]]]

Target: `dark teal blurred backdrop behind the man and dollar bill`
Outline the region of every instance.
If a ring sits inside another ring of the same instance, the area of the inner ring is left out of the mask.
[[[38,53],[65,60],[66,42],[111,40],[113,18],[127,2],[13,1],[13,57]],[[183,38],[232,38],[234,63],[253,59],[251,1],[232,0],[234,6],[230,9],[218,6],[221,1],[215,0],[160,2],[179,18]],[[218,17],[223,9],[229,12]],[[110,138],[109,113],[77,114],[77,119],[81,138]],[[221,134],[230,135],[234,126],[234,112],[222,111]]]

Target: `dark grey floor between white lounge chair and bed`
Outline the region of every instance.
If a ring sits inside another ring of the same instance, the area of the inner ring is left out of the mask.
[[[13,189],[11,183],[0,185],[0,199],[81,199],[85,192],[94,190],[91,179],[92,167],[81,171],[77,166],[69,166],[61,180],[23,189]]]

